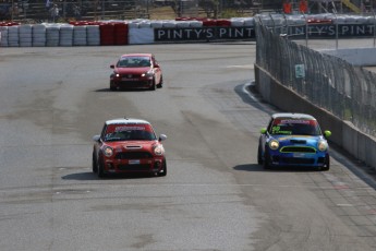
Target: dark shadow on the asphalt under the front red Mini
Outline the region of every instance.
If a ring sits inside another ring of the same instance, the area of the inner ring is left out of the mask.
[[[158,176],[150,174],[120,174],[120,175],[106,175],[104,178],[98,178],[97,174],[92,171],[71,174],[62,176],[63,180],[117,180],[117,179],[145,179],[145,178],[159,178]]]

